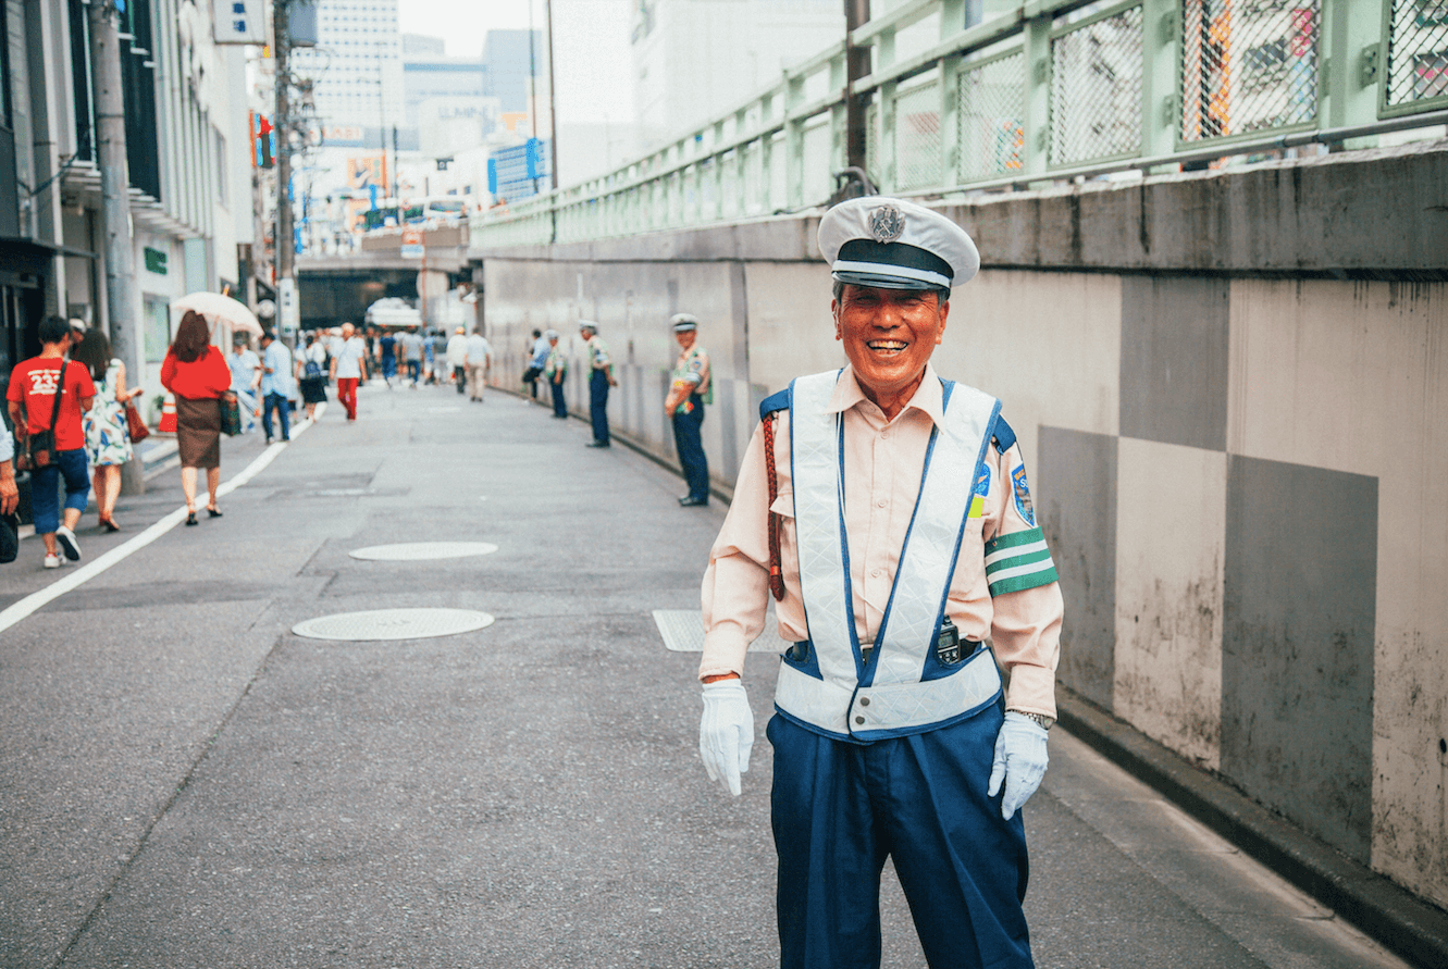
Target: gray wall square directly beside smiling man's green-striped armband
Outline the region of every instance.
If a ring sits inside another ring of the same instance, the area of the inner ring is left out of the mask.
[[[1060,681],[1111,710],[1116,655],[1116,439],[1041,427],[1041,527],[1066,598]]]

